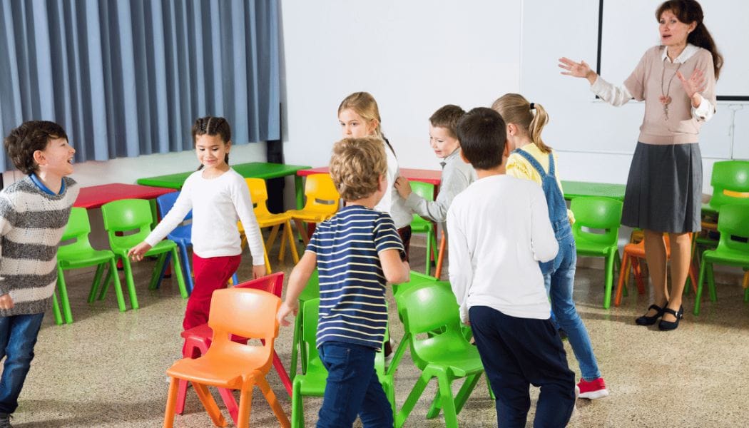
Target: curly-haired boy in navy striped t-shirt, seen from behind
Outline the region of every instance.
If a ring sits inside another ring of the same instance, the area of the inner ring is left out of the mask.
[[[320,273],[317,346],[328,370],[318,428],[392,427],[392,408],[375,373],[375,352],[387,327],[386,283],[409,280],[403,244],[389,214],[376,211],[389,192],[385,149],[379,138],[348,138],[333,145],[330,175],[346,201],[318,225],[288,281],[279,322],[297,313],[310,274]],[[351,268],[355,265],[356,268]]]

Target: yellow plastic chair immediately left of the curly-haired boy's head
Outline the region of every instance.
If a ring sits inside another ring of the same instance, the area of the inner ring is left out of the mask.
[[[304,208],[288,210],[285,214],[297,224],[297,231],[302,235],[304,244],[309,243],[309,236],[303,222],[321,223],[338,211],[341,195],[333,184],[330,174],[310,174],[304,184],[304,196],[307,200]]]

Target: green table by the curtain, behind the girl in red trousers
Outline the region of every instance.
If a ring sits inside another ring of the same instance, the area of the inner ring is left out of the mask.
[[[239,175],[244,178],[262,178],[267,180],[269,178],[285,177],[286,175],[294,175],[294,193],[297,198],[297,208],[301,209],[304,203],[304,187],[302,187],[302,177],[297,175],[297,171],[300,169],[309,169],[312,166],[304,165],[285,165],[283,163],[267,163],[267,162],[249,162],[249,163],[237,163],[231,165],[234,171],[238,172]],[[187,177],[194,171],[189,172],[178,172],[177,174],[159,175],[157,177],[139,178],[138,184],[144,186],[154,187],[166,187],[168,189],[180,190]]]

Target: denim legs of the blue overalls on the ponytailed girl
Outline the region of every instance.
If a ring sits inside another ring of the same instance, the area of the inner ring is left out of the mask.
[[[551,296],[551,312],[554,313],[557,323],[567,333],[574,358],[580,365],[583,379],[592,381],[601,377],[598,370],[598,361],[593,355],[593,347],[590,344],[588,331],[583,325],[583,320],[577,314],[572,300],[572,289],[574,288],[574,271],[577,263],[577,250],[574,246],[574,238],[568,235],[559,242],[560,250],[554,259],[554,268],[551,274],[544,275],[546,292]]]

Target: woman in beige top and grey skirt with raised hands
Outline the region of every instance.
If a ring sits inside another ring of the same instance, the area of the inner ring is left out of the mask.
[[[679,327],[682,292],[691,262],[691,233],[700,231],[702,159],[700,127],[715,113],[715,80],[723,58],[694,0],[666,1],[655,11],[661,44],[648,49],[624,85],[601,79],[585,61],[560,58],[562,74],[584,77],[591,91],[613,106],[645,101],[645,117],[629,169],[622,224],[645,232],[645,256],[655,301],[638,325]],[[666,287],[666,246],[671,245],[671,288]]]

